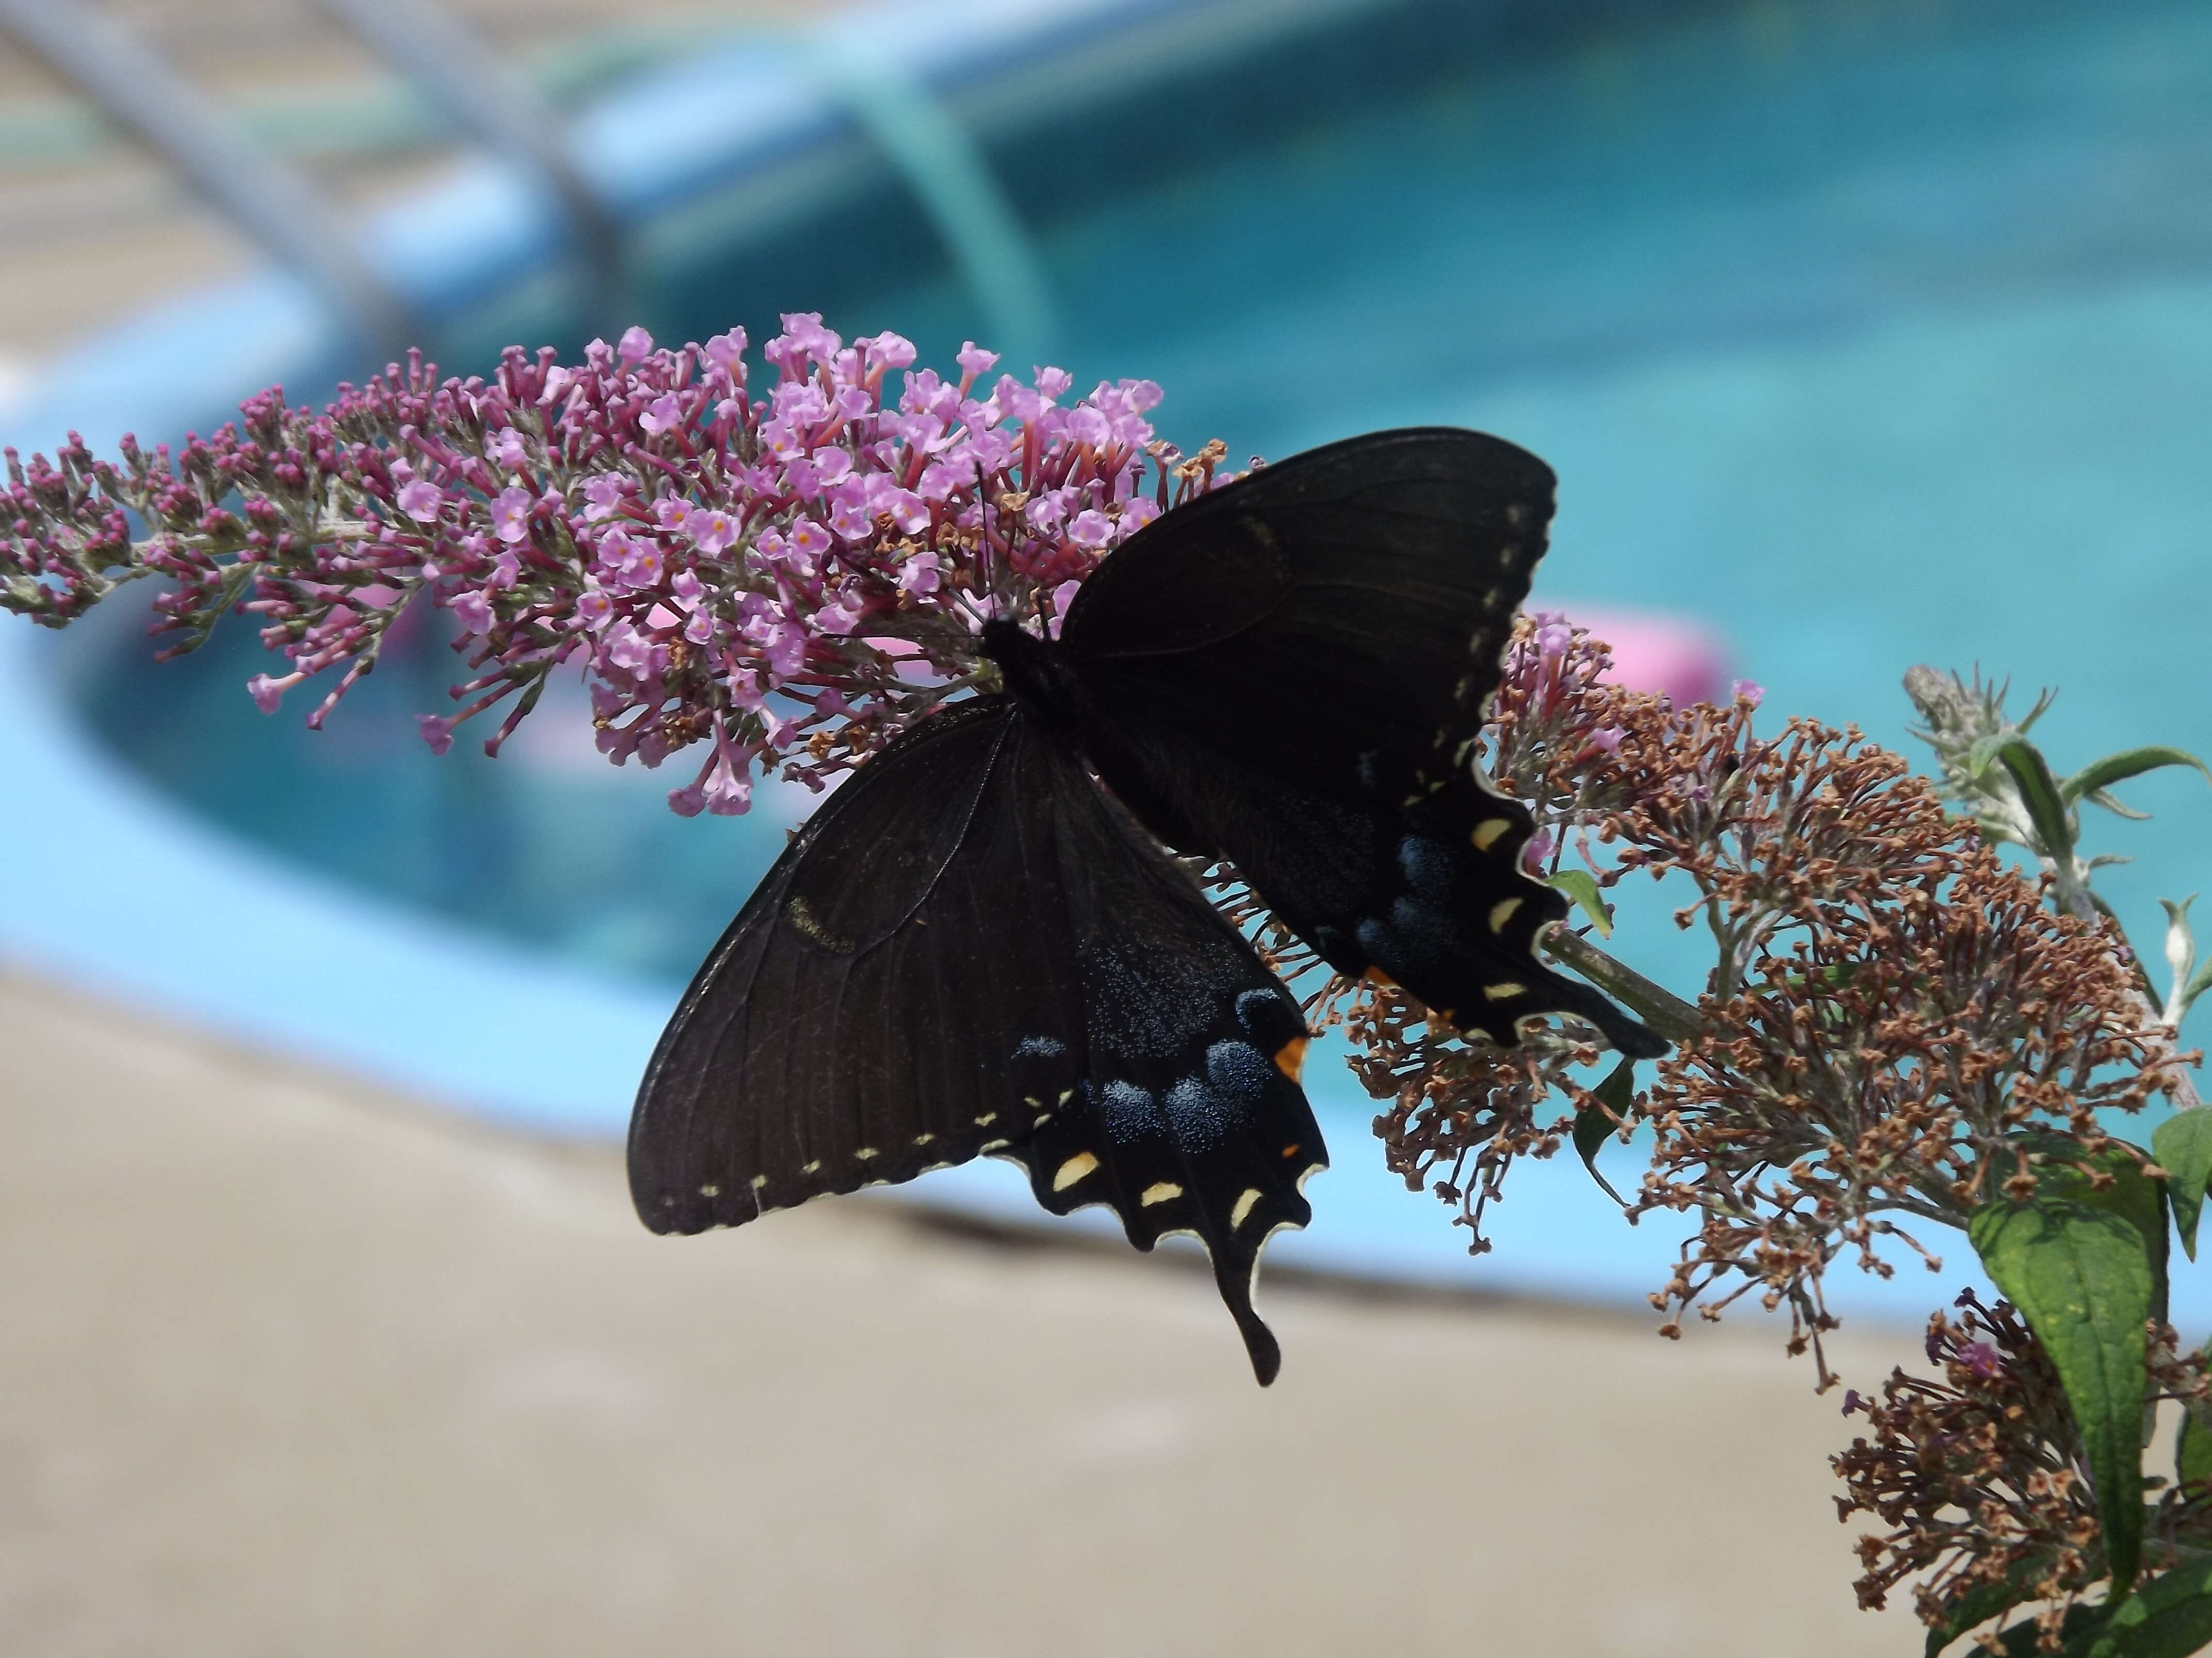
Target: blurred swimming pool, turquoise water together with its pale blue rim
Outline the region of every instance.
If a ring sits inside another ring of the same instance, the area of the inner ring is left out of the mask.
[[[1261,9],[1230,4],[896,15],[938,29],[907,44],[969,86],[953,108],[1029,228],[1018,256],[1048,296],[1026,321],[1035,349],[1079,382],[1157,378],[1157,418],[1186,447],[1500,431],[1562,475],[1540,590],[1721,628],[1776,714],[1907,745],[1902,670],[1980,661],[2062,685],[2042,727],[2059,763],[2212,747],[2188,672],[2212,597],[2201,7],[1316,4],[1267,9],[1259,33]],[[973,270],[865,146],[794,102],[779,51],[672,69],[586,117],[611,177],[659,203],[648,325],[743,321],[759,338],[774,309],[823,307],[847,334],[914,336],[925,363],[989,338]],[[945,69],[975,62],[995,80]],[[701,128],[732,99],[761,135],[717,172]],[[511,274],[546,232],[500,206],[495,179],[462,179],[398,230],[394,256],[451,318],[449,360],[500,329],[557,336],[557,305]],[[469,261],[502,234],[493,281]],[[199,309],[148,318],[53,398],[108,385],[93,407],[153,431],[208,422],[265,378],[305,391],[334,374],[296,305],[252,329],[239,294],[184,305]],[[161,396],[133,385],[131,351],[175,358],[186,327],[237,340],[232,360]],[[9,420],[11,440],[102,431],[64,409]],[[664,780],[606,767],[560,710],[495,765],[434,760],[409,718],[442,685],[422,643],[312,736],[239,692],[250,630],[159,670],[115,628],[64,637],[51,747],[106,789],[100,811],[170,814],[170,842],[195,849],[170,880],[237,875],[208,937],[133,944],[175,955],[184,988],[155,990],[173,1006],[206,1017],[228,995],[221,1017],[263,1037],[522,1121],[613,1127],[675,984],[799,807],[675,820]],[[2148,778],[2128,796],[2152,822],[2097,825],[2137,858],[2106,878],[2130,924],[2205,880],[2201,789]],[[272,917],[272,886],[321,904],[323,931]],[[128,944],[131,904],[93,928],[58,904],[46,931],[75,942],[20,948],[88,959],[100,928]],[[1701,966],[1652,904],[1624,951],[1679,984]],[[131,984],[128,962],[86,970]],[[274,982],[290,977],[305,984]],[[363,1001],[376,1019],[349,1012]],[[1657,1282],[1666,1240],[1621,1234],[1573,1167],[1515,1174],[1500,1253],[1467,1267],[1442,1205],[1376,1178],[1349,1083],[1321,1103],[1336,1172],[1316,1187],[1318,1258],[1584,1293]],[[1334,1245],[1332,1205],[1349,1227]],[[1929,1280],[1900,1291],[1907,1313],[1929,1302]]]

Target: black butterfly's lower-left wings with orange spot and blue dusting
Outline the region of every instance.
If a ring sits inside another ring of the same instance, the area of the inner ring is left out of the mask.
[[[1252,1273],[1325,1165],[1303,1037],[1066,743],[975,699],[869,760],[748,900],[646,1072],[630,1187],[655,1231],[701,1231],[1006,1156],[1055,1214],[1197,1236],[1265,1382]]]

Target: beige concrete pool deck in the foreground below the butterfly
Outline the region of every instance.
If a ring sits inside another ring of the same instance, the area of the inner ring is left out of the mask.
[[[1752,1322],[1276,1282],[1261,1393],[1175,1262],[856,1203],[650,1238],[615,1147],[22,973],[0,1052],[20,1658],[1918,1649]]]

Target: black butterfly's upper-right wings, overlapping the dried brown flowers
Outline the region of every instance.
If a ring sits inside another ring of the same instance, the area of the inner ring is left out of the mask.
[[[1329,444],[1130,537],[1060,650],[1115,791],[1177,849],[1237,864],[1338,973],[1498,1041],[1571,1012],[1655,1054],[1537,959],[1566,900],[1520,867],[1526,809],[1467,763],[1551,513],[1551,469],[1498,438]]]

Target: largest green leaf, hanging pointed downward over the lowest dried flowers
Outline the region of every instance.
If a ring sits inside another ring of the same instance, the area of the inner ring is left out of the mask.
[[[2039,1192],[1984,1203],[1966,1236],[2059,1373],[2112,1585],[2126,1589],[2143,1554],[2143,1322],[2154,1291],[2143,1234],[2112,1209]]]

